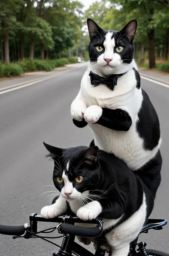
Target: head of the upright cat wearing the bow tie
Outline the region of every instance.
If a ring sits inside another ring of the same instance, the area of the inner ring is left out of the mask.
[[[87,19],[90,43],[89,57],[95,70],[104,75],[121,74],[130,69],[133,60],[133,39],[137,20],[131,20],[122,30],[103,30]]]

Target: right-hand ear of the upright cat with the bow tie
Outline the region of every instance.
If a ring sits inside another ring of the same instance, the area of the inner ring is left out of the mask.
[[[137,29],[137,20],[131,20],[127,25],[121,30],[121,36],[125,35],[130,42],[133,42],[135,32]]]

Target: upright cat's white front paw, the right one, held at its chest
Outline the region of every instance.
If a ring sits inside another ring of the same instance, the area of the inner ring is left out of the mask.
[[[102,108],[97,105],[89,106],[84,112],[84,120],[87,123],[96,123],[102,115]]]

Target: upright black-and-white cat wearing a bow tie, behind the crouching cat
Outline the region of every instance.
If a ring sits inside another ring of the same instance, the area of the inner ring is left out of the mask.
[[[160,185],[160,125],[158,115],[140,87],[133,59],[137,21],[122,30],[103,30],[87,19],[90,63],[71,104],[77,127],[91,127],[99,149],[113,153],[136,171],[155,198]]]

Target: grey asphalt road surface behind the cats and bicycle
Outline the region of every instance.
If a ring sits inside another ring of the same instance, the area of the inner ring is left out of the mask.
[[[38,199],[43,192],[54,191],[50,186],[41,188],[53,185],[53,166],[45,158],[43,141],[58,147],[88,145],[91,141],[89,128],[76,128],[70,115],[70,104],[84,72],[81,69],[0,95],[0,224],[28,222],[30,213],[40,213],[50,199],[45,197],[54,193],[45,193]],[[169,89],[144,79],[142,87],[157,109],[163,134],[162,183],[152,217],[169,219]],[[169,225],[141,238],[148,248],[169,252]],[[61,240],[55,242],[60,244]],[[40,239],[12,240],[0,235],[3,256],[50,256],[55,251],[57,247]]]

